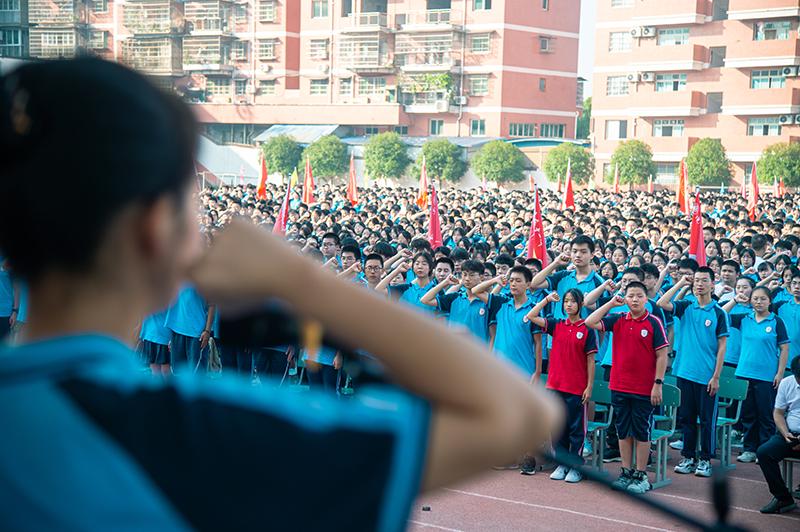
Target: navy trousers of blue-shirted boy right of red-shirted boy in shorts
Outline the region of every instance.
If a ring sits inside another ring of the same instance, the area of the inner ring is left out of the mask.
[[[683,431],[684,458],[710,460],[717,447],[717,400],[706,391],[706,384],[678,378],[681,391],[679,424]],[[697,422],[700,421],[700,455],[697,456]]]

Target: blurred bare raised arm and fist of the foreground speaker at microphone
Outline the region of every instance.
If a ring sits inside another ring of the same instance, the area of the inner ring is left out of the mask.
[[[223,230],[190,277],[214,301],[287,301],[298,315],[372,353],[395,382],[428,400],[425,490],[514,460],[560,426],[562,408],[484,346],[337,280],[246,222]]]

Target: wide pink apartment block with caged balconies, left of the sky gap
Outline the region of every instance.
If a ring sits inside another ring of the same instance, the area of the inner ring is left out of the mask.
[[[0,0],[4,36],[5,6],[29,34],[14,53],[122,61],[219,140],[273,124],[575,134],[580,0]]]

